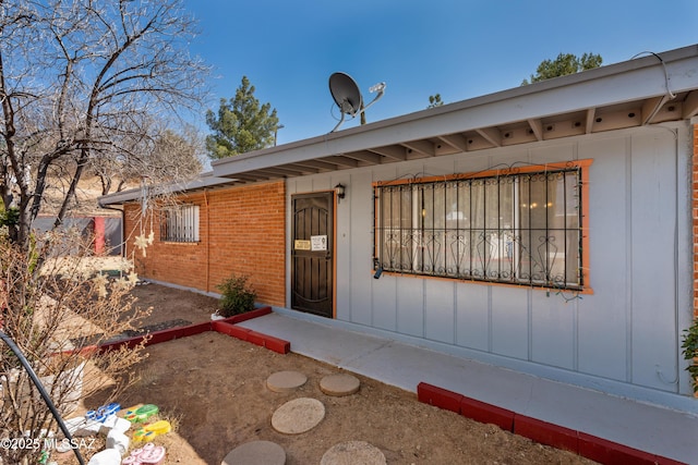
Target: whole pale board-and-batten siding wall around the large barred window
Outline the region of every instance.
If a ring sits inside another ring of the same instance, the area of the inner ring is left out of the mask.
[[[347,326],[636,399],[690,395],[681,331],[694,313],[691,152],[683,122],[289,179],[287,189],[347,186],[335,231],[336,318]],[[593,160],[592,294],[373,279],[373,182],[582,159]]]

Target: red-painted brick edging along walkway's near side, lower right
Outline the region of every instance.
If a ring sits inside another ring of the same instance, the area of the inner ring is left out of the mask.
[[[586,432],[520,415],[425,382],[417,386],[417,396],[425,404],[455,412],[480,423],[494,424],[541,444],[569,451],[602,464],[686,465]]]

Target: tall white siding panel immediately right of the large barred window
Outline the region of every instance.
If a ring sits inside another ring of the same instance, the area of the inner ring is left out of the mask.
[[[629,291],[625,211],[628,203],[629,147],[626,137],[580,144],[579,158],[593,158],[589,170],[590,278],[593,295],[579,304],[578,369],[626,380]]]

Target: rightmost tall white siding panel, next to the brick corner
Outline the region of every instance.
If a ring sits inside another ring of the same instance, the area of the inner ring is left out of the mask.
[[[658,389],[675,378],[675,146],[669,132],[633,137],[631,381]],[[660,377],[658,371],[669,374]]]

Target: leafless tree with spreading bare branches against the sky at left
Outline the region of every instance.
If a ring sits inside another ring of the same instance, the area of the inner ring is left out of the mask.
[[[55,212],[59,227],[85,170],[135,172],[124,162],[154,157],[177,113],[202,107],[208,69],[188,52],[195,29],[181,0],[19,3],[0,1],[0,195],[5,209],[19,208],[10,229],[26,245],[55,166],[72,167]],[[185,173],[148,175],[159,183]],[[112,186],[101,181],[103,191]]]

